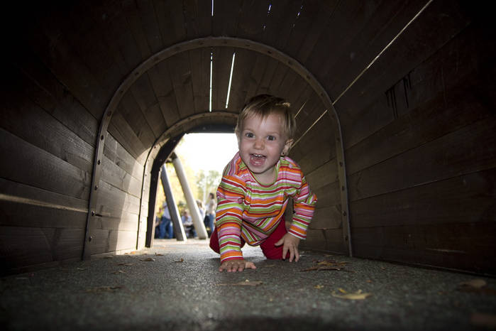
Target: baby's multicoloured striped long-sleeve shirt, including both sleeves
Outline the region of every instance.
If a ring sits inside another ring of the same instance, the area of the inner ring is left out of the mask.
[[[239,153],[226,165],[217,189],[216,228],[221,263],[243,259],[241,238],[256,246],[269,237],[284,215],[288,197],[294,201],[294,215],[288,232],[300,239],[307,237],[316,196],[292,159],[280,158],[276,167],[274,183],[263,185],[250,173]]]

